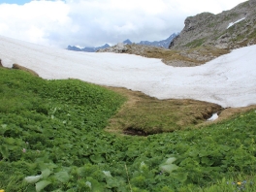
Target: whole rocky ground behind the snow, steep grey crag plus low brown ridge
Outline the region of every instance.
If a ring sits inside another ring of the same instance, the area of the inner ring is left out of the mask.
[[[98,51],[161,58],[167,65],[191,67],[206,63],[233,48],[256,44],[256,0],[218,15],[203,13],[185,19],[185,27],[171,42],[171,50],[118,44]]]

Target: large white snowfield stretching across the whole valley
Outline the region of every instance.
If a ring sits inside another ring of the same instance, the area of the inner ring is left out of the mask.
[[[198,67],[175,68],[159,59],[48,48],[0,36],[0,58],[5,67],[16,63],[48,80],[74,78],[224,108],[256,104],[256,46],[235,49]]]

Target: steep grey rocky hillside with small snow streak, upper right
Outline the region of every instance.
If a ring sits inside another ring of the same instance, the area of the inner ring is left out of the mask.
[[[213,46],[232,49],[254,44],[256,44],[256,0],[249,0],[218,15],[202,13],[188,16],[185,19],[185,27],[169,48]]]

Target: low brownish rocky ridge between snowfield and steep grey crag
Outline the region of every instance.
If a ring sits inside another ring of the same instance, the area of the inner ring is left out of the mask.
[[[174,67],[193,67],[202,65],[229,50],[222,48],[190,48],[186,50],[172,50],[167,48],[156,48],[144,45],[125,45],[119,43],[110,48],[102,48],[97,52],[115,52],[137,54],[148,58],[160,58],[162,61]]]

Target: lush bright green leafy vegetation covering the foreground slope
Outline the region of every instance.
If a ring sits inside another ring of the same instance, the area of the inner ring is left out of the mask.
[[[255,182],[255,110],[139,138],[104,132],[124,98],[80,80],[41,80],[0,68],[0,95],[0,188],[6,191],[234,191],[240,185],[219,179]],[[36,175],[30,184],[22,181]]]

